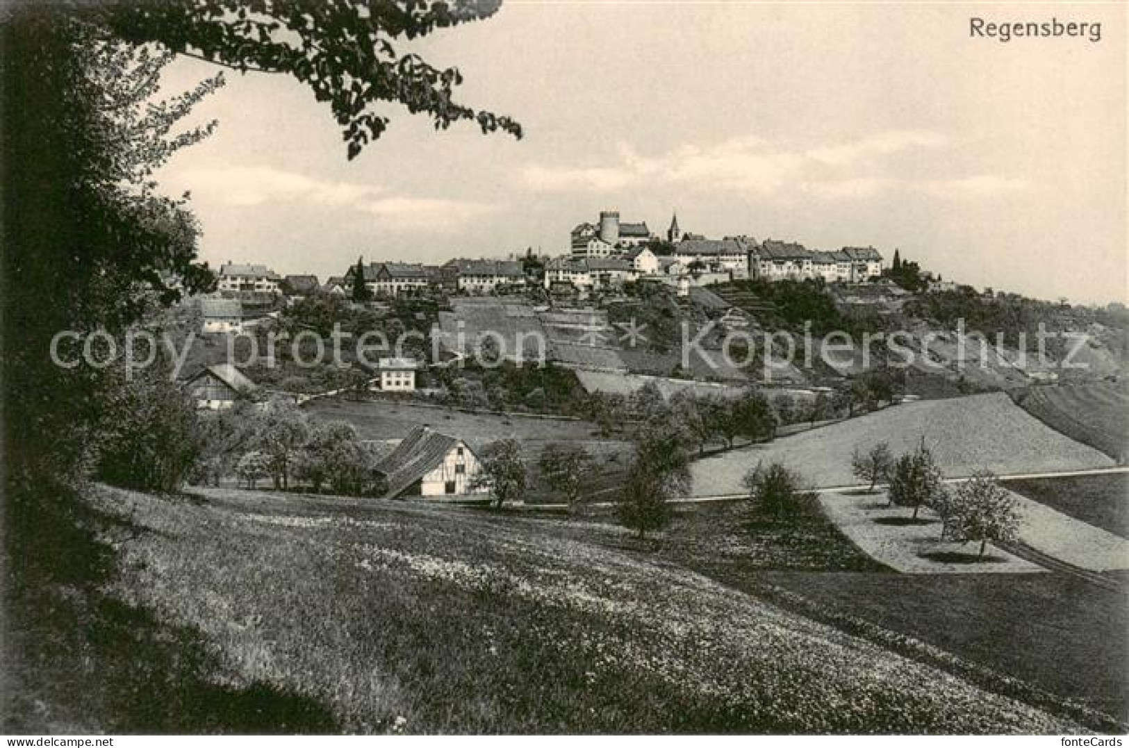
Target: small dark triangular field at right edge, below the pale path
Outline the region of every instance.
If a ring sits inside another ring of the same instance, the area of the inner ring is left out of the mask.
[[[1064,514],[1129,538],[1129,474],[1008,481],[1007,487]]]

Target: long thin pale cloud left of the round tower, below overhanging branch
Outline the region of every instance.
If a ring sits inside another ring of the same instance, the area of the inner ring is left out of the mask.
[[[449,231],[493,210],[462,200],[396,194],[383,185],[318,179],[262,166],[194,168],[175,178],[178,186],[236,206],[315,205],[376,215],[382,228]]]

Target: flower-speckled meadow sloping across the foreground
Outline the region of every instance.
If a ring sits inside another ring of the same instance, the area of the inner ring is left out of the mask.
[[[130,528],[106,588],[117,605],[193,632],[209,653],[194,678],[288,714],[287,730],[1082,729],[672,561],[524,521],[501,531],[497,513],[224,491],[91,500]],[[134,723],[195,694],[134,693]]]

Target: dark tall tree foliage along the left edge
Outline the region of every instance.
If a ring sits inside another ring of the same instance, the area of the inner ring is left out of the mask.
[[[195,221],[151,174],[211,131],[174,127],[221,79],[155,100],[170,55],[104,38],[54,3],[9,8],[2,34],[3,442],[21,495],[84,464],[105,385],[53,366],[52,336],[122,332],[154,299],[177,298],[163,271],[190,292],[213,285]]]

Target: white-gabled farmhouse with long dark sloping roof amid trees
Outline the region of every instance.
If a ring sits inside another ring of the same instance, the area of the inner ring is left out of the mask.
[[[474,487],[480,464],[466,442],[423,425],[412,429],[376,469],[387,479],[386,495],[391,498],[441,499],[489,492]]]

